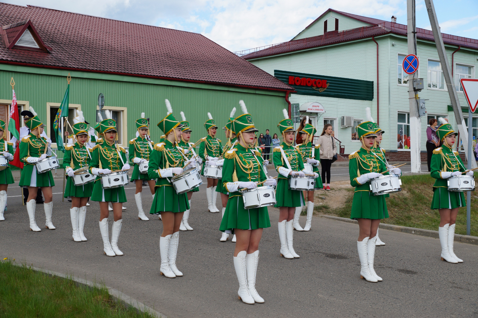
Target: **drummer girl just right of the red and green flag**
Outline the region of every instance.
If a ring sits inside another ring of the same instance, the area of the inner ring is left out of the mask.
[[[22,138],[20,142],[20,160],[25,163],[20,177],[19,185],[21,187],[28,187],[27,211],[30,218],[30,229],[34,232],[41,231],[35,222],[36,196],[38,188],[42,189],[45,196],[43,208],[45,210],[46,223],[45,227],[54,230],[52,223],[53,212],[53,191],[52,187],[55,185],[53,181],[52,171],[48,170],[43,173],[38,173],[36,170],[36,163],[40,160],[50,157],[47,155],[47,150],[51,154],[51,149],[48,149],[48,141],[46,138],[40,136],[43,133],[43,123],[38,118],[32,107],[30,107],[33,117],[25,121],[25,126],[30,129],[30,134]]]

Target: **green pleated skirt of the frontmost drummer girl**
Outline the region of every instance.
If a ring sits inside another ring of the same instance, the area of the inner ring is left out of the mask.
[[[271,221],[267,207],[246,210],[242,195],[235,195],[229,197],[219,230],[233,233],[234,229],[256,230],[270,226]]]

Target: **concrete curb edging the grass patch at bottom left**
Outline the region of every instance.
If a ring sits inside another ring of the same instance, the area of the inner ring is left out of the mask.
[[[86,286],[87,288],[92,288],[92,287],[97,287],[101,288],[102,286],[97,283],[90,282],[89,280],[83,279],[83,278],[78,278],[75,276],[69,276],[65,275],[62,273],[54,272],[54,271],[49,271],[43,268],[37,268],[37,267],[32,267],[33,270],[45,273],[50,276],[58,276],[62,277],[64,279],[71,279],[76,282],[76,286]],[[155,318],[167,318],[163,314],[157,312],[156,310],[152,309],[151,307],[148,307],[144,305],[143,303],[139,302],[138,300],[129,297],[126,294],[123,294],[120,292],[118,289],[115,288],[110,288],[108,286],[105,286],[106,289],[108,289],[109,295],[116,301],[120,302],[124,307],[133,307],[135,308],[138,312],[147,312],[150,314],[152,317]]]

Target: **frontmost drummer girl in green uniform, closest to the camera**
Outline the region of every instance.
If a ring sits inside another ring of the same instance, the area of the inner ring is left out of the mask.
[[[275,179],[267,179],[262,163],[250,149],[254,143],[254,133],[258,131],[250,114],[234,119],[239,142],[225,153],[222,182],[229,192],[228,203],[220,230],[234,232],[237,237],[234,250],[234,268],[239,281],[238,296],[246,304],[263,303],[264,299],[256,291],[256,272],[259,262],[259,242],[263,228],[270,227],[267,207],[244,209],[241,188],[257,188],[257,182],[274,186]]]

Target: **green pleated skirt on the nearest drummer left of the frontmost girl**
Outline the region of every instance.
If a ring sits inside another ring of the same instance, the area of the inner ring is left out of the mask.
[[[189,202],[187,200],[187,192],[177,194],[173,186],[162,185],[156,186],[154,189],[154,199],[152,199],[152,206],[150,213],[161,212],[185,212],[189,210]]]

